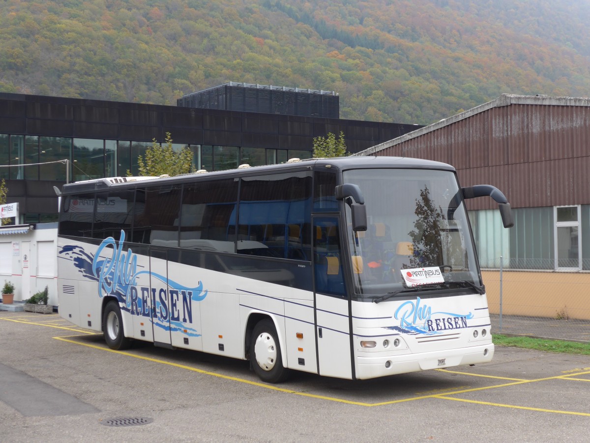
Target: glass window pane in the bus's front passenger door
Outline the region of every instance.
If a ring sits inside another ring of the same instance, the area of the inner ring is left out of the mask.
[[[338,219],[314,218],[313,234],[316,292],[346,297]]]

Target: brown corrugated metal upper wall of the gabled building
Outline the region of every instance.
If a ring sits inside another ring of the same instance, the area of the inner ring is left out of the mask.
[[[461,185],[491,184],[512,207],[590,204],[588,106],[511,104],[376,152],[449,163]],[[492,209],[491,199],[469,201]]]

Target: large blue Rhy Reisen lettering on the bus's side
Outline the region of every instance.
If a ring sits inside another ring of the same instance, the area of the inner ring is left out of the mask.
[[[202,282],[191,288],[155,272],[137,271],[137,256],[130,248],[123,251],[124,241],[125,233],[121,231],[119,242],[108,237],[96,251],[92,271],[99,282],[99,296],[122,296],[132,315],[152,317],[153,312],[156,320],[192,323],[192,302],[207,297]],[[143,274],[149,275],[152,281],[160,281],[162,287],[136,286],[137,277]]]

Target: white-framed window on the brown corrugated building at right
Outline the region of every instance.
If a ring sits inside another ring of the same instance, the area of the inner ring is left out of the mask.
[[[556,206],[555,269],[581,270],[582,233],[579,230],[580,206]]]

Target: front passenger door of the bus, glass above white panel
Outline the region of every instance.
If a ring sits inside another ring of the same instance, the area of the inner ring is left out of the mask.
[[[314,217],[312,235],[319,373],[352,378],[350,315],[338,217]]]

